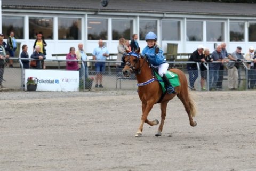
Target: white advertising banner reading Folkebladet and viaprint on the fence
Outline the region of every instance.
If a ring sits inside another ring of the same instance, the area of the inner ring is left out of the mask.
[[[26,69],[24,83],[26,90],[29,77],[37,78],[37,91],[79,91],[79,71]]]

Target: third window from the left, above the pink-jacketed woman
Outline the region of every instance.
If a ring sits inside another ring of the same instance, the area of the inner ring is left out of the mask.
[[[59,40],[81,40],[81,19],[58,18]]]

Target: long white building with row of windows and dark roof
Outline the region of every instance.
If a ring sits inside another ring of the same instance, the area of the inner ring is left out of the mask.
[[[100,0],[2,0],[1,28],[6,38],[13,30],[30,54],[36,33],[42,32],[48,59],[81,42],[92,53],[99,39],[117,53],[119,38],[131,39],[134,33],[143,48],[149,31],[156,32],[164,52],[167,43],[177,43],[178,53],[191,53],[199,44],[212,52],[221,42],[229,53],[238,45],[246,52],[256,46],[255,9],[256,4],[161,0],[110,0],[107,7]]]

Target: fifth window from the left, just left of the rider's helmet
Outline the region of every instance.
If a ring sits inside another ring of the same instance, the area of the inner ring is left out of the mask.
[[[112,20],[112,39],[119,40],[121,37],[130,40],[132,37],[132,20]]]

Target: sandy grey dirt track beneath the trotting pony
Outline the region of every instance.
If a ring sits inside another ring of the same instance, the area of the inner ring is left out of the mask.
[[[256,91],[192,92],[196,127],[175,98],[140,138],[135,91],[0,93],[0,170],[256,170]]]

